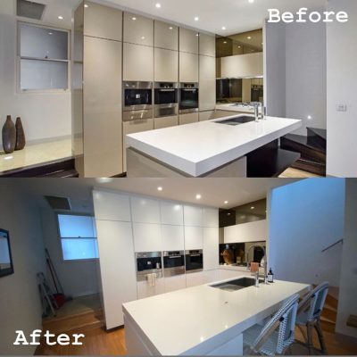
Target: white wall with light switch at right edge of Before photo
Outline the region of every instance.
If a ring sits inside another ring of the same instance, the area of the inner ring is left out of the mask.
[[[328,24],[328,175],[357,177],[357,1],[329,0],[328,11],[348,12],[350,20]],[[346,104],[347,112],[337,112]]]

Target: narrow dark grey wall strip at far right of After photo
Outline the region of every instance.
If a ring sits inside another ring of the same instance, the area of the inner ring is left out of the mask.
[[[342,253],[341,282],[336,332],[357,337],[357,328],[346,326],[350,315],[357,316],[357,179],[346,180],[345,241]]]

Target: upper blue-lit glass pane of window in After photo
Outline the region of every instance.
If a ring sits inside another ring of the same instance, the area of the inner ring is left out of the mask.
[[[96,237],[93,229],[93,219],[88,216],[58,215],[60,235],[65,238],[92,238]]]

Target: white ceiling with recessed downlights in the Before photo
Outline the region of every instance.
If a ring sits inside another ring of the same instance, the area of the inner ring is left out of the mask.
[[[262,29],[269,8],[295,12],[301,7],[319,8],[327,0],[99,0],[173,21],[220,36]],[[160,9],[155,4],[160,3]],[[200,20],[195,21],[195,16]],[[222,30],[225,26],[227,29]]]

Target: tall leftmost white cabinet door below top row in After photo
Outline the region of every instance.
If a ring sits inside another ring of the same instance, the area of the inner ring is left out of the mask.
[[[129,222],[96,220],[107,329],[124,324],[121,305],[137,300],[134,246]]]

